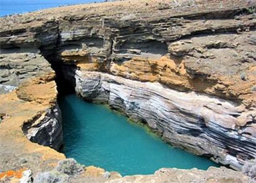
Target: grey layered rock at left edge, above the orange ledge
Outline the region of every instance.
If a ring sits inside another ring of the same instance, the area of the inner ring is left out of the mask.
[[[33,48],[0,49],[0,94],[14,90],[27,79],[51,71],[49,63],[38,52]]]

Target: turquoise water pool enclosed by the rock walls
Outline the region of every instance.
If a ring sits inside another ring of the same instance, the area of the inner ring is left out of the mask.
[[[59,100],[64,128],[63,152],[86,166],[100,166],[123,176],[152,174],[159,168],[218,166],[164,143],[147,128],[128,122],[127,117],[101,104],[75,95]]]

